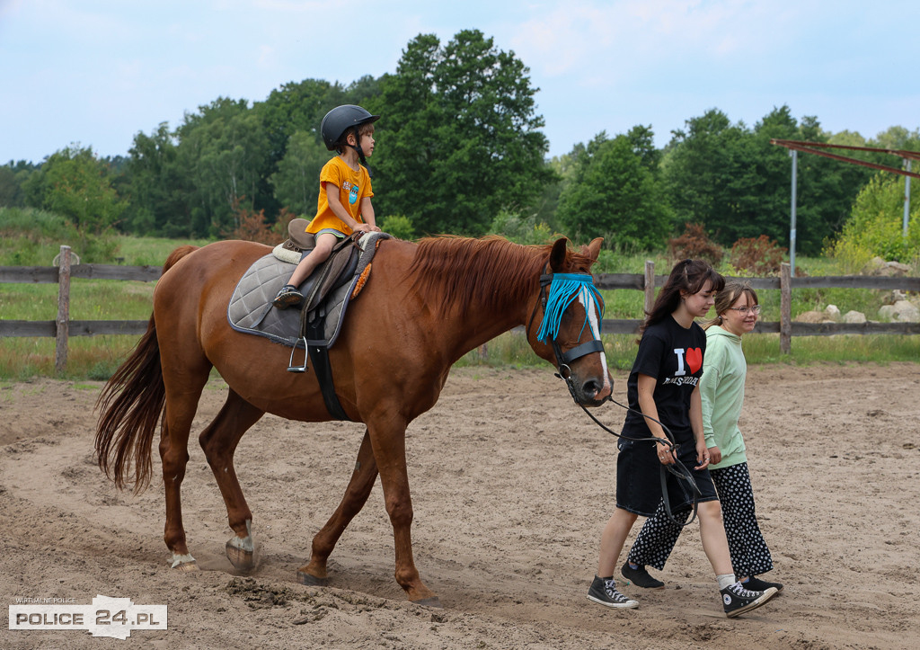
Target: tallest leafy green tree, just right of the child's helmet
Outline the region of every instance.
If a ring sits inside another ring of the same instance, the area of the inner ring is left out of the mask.
[[[443,47],[408,43],[369,107],[379,122],[374,192],[381,214],[417,231],[485,233],[501,209],[532,208],[553,178],[529,70],[475,29]]]

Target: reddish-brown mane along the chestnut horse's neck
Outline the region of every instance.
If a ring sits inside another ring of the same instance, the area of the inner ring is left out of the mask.
[[[549,259],[551,244],[524,246],[497,235],[423,238],[408,269],[412,289],[429,305],[461,313],[468,308],[505,308],[532,297],[537,276]],[[591,261],[578,253],[570,259],[581,270]]]

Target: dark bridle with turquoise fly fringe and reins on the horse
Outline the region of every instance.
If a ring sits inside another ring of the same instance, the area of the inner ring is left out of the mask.
[[[595,424],[600,426],[604,431],[610,435],[614,435],[618,438],[624,438],[631,440],[633,442],[653,442],[656,445],[663,445],[668,448],[668,453],[672,454],[674,458],[673,464],[664,465],[661,464],[661,498],[664,501],[664,509],[669,519],[675,526],[683,528],[694,522],[696,519],[697,512],[697,503],[696,497],[702,496],[699,487],[696,485],[696,481],[693,478],[693,474],[689,469],[681,462],[680,458],[677,457],[677,443],[674,439],[671,430],[665,424],[662,424],[661,421],[656,420],[650,415],[639,411],[638,409],[630,408],[620,402],[614,400],[609,395],[602,400],[612,401],[617,406],[626,409],[627,411],[635,412],[641,415],[644,418],[648,418],[653,422],[661,424],[661,429],[664,431],[664,434],[667,435],[667,439],[661,439],[657,436],[643,437],[643,438],[634,438],[627,435],[620,435],[615,433],[609,427],[604,425],[600,420],[594,417],[593,413],[588,411],[585,408],[584,404],[581,403],[581,400],[578,398],[578,393],[575,390],[575,382],[572,381],[571,367],[569,364],[575,361],[576,359],[586,356],[587,354],[593,353],[603,353],[604,352],[604,342],[600,339],[600,324],[598,325],[598,331],[594,331],[591,327],[592,340],[588,342],[581,343],[575,347],[563,352],[561,346],[558,343],[558,324],[561,322],[562,315],[565,313],[566,309],[569,308],[569,305],[575,301],[576,296],[584,296],[583,292],[587,292],[587,296],[591,296],[593,300],[596,296],[598,302],[602,302],[600,298],[600,292],[597,291],[597,288],[594,286],[594,280],[591,273],[550,273],[548,270],[548,262],[546,267],[544,267],[544,273],[540,275],[540,299],[534,305],[534,311],[530,315],[530,321],[527,325],[527,331],[529,332],[531,327],[534,324],[534,319],[536,316],[536,308],[543,308],[543,321],[541,322],[540,329],[536,333],[537,341],[546,342],[548,339],[552,349],[553,354],[556,357],[556,367],[557,374],[556,376],[566,382],[566,387],[569,389],[569,395],[571,395],[572,400],[575,401],[581,407],[581,410],[588,414]],[[558,284],[555,284],[558,283]],[[555,285],[554,285],[555,284]],[[588,309],[590,308],[588,304],[584,304],[585,308],[585,325],[588,325]],[[548,311],[547,311],[548,309]],[[603,319],[603,308],[598,308],[598,316]],[[583,327],[582,327],[583,331]],[[581,337],[580,337],[581,338]],[[668,496],[667,488],[667,472],[671,472],[676,476],[680,481],[678,485],[681,488],[681,491],[684,493],[684,498],[689,500],[693,504],[693,517],[683,524],[677,520],[673,515],[671,509],[671,500]],[[686,483],[686,485],[684,485]],[[688,492],[689,486],[689,492]]]

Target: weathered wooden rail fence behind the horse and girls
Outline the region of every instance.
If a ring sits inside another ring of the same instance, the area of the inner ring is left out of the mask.
[[[116,264],[71,265],[71,250],[61,247],[58,266],[0,266],[0,284],[5,283],[57,283],[58,315],[54,320],[0,319],[0,337],[47,336],[56,339],[54,366],[60,372],[67,364],[67,340],[70,336],[98,336],[100,334],[140,335],[147,330],[146,320],[71,320],[70,281],[72,278],[88,280],[135,280],[155,282],[160,276],[158,266],[119,266]],[[594,276],[599,289],[637,289],[645,293],[645,308],[651,308],[655,287],[667,280],[667,275],[655,275],[655,266],[647,261],[645,273],[600,273]],[[780,319],[758,321],[755,332],[779,333],[780,350],[791,351],[793,336],[829,336],[832,334],[920,334],[920,323],[803,323],[792,320],[792,289],[880,289],[920,292],[920,277],[879,277],[871,275],[834,275],[792,278],[789,265],[782,265],[779,277],[742,278],[754,289],[780,291]],[[638,331],[641,319],[605,319],[601,326],[604,334],[629,334]]]

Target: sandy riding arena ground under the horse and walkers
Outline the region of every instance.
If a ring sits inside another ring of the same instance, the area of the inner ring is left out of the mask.
[[[626,376],[615,373],[625,400]],[[165,604],[167,631],[127,641],[0,629],[2,648],[913,648],[920,634],[920,365],[753,367],[742,429],[761,528],[786,590],[729,620],[684,532],[661,578],[625,586],[639,609],[585,599],[614,504],[615,439],[549,366],[454,370],[408,429],[415,557],[443,609],[405,600],[374,488],[333,553],[328,587],[296,582],[351,475],[360,424],[266,416],[236,469],[255,515],[259,567],[224,558],[231,532],[197,434],[224,400],[205,389],[183,484],[201,572],[167,566],[162,482],[119,493],[93,458],[101,384],[0,388],[0,602],[132,598]],[[615,430],[624,412],[596,414]],[[159,459],[154,451],[155,477]],[[633,534],[638,531],[634,528]]]

